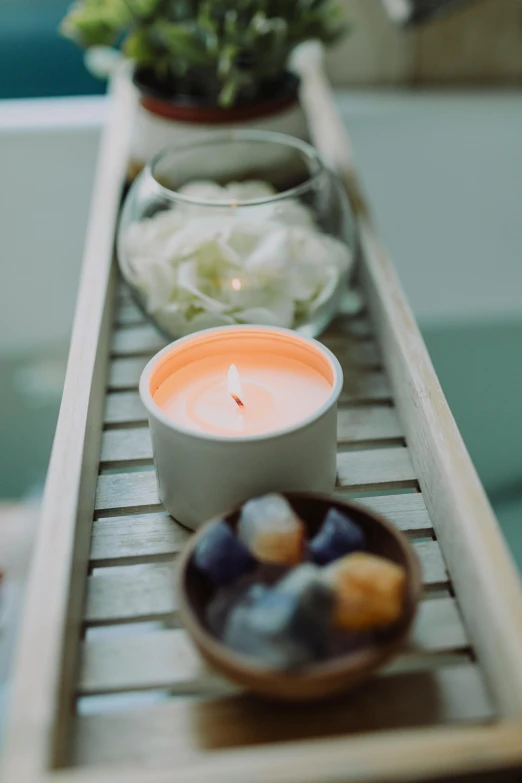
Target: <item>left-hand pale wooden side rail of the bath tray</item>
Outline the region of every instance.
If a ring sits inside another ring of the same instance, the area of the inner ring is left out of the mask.
[[[114,225],[134,91],[123,71],[103,135],[67,374],[19,633],[1,777],[35,781],[64,758],[102,437]]]

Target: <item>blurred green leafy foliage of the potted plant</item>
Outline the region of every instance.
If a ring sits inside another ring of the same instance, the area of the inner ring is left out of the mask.
[[[83,47],[119,46],[163,92],[222,107],[255,101],[302,41],[346,30],[338,0],[78,0],[62,22]]]

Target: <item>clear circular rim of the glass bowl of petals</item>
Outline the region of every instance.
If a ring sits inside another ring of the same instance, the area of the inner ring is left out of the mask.
[[[288,188],[287,190],[274,193],[272,196],[263,196],[262,198],[255,199],[199,199],[191,196],[185,196],[176,190],[162,185],[156,179],[154,175],[154,169],[158,164],[164,160],[168,155],[173,153],[182,153],[184,150],[194,150],[197,147],[206,147],[212,144],[233,144],[234,142],[255,142],[262,144],[276,144],[281,147],[292,148],[300,152],[308,162],[313,166],[313,171],[310,176],[299,185]],[[325,171],[324,163],[322,162],[319,154],[306,141],[296,138],[295,136],[289,136],[285,133],[275,133],[274,131],[257,131],[257,130],[223,130],[223,131],[210,131],[209,133],[201,133],[196,139],[189,138],[184,141],[176,142],[168,147],[165,147],[158,152],[143,169],[141,177],[147,177],[149,180],[149,186],[159,196],[166,198],[172,202],[179,202],[180,204],[195,204],[203,207],[251,207],[260,204],[272,204],[277,201],[284,201],[286,199],[296,199],[309,190],[311,190],[317,180]],[[141,178],[140,177],[140,178]]]

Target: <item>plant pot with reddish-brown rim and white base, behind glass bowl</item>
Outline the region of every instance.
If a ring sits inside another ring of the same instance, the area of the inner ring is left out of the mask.
[[[252,128],[301,139],[308,135],[298,100],[299,80],[290,72],[267,86],[258,100],[243,101],[227,109],[205,98],[167,95],[145,69],[136,70],[134,84],[140,92],[140,100],[131,147],[131,178],[154,155],[180,141],[185,134]]]

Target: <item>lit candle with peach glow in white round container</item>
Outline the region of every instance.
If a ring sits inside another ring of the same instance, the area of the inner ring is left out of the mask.
[[[287,329],[225,326],[168,345],[140,380],[166,509],[196,529],[266,492],[331,492],[342,383],[331,351]]]

